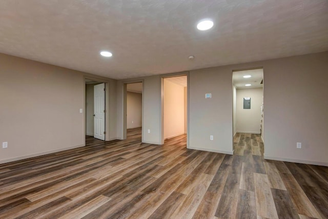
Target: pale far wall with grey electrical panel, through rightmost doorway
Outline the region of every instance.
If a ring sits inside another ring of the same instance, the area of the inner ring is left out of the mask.
[[[251,97],[251,109],[243,109],[243,98]],[[237,89],[237,132],[260,133],[263,88]]]

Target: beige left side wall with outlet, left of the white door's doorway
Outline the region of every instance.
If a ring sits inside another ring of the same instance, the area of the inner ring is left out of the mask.
[[[0,163],[84,146],[82,73],[0,54]]]

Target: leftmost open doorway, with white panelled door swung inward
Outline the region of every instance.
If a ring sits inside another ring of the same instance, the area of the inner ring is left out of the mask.
[[[106,84],[86,79],[86,140],[105,141],[106,135]]]

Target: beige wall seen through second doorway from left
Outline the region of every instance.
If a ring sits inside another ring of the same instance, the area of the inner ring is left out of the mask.
[[[142,94],[127,92],[127,129],[142,126]]]

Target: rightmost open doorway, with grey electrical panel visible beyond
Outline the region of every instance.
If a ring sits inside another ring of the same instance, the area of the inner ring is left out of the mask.
[[[233,150],[263,156],[263,68],[233,71]]]

